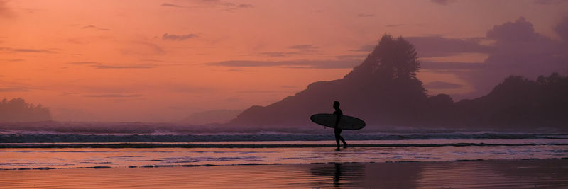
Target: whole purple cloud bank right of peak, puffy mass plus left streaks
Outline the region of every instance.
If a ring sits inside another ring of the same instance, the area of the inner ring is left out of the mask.
[[[421,57],[444,57],[463,52],[481,52],[487,58],[481,63],[422,62],[423,69],[455,74],[471,84],[474,92],[461,96],[484,95],[507,76],[520,75],[535,79],[552,72],[568,73],[568,18],[555,26],[560,39],[536,33],[525,18],[495,25],[481,39],[449,39],[443,37],[408,38]],[[479,45],[491,40],[493,45]]]

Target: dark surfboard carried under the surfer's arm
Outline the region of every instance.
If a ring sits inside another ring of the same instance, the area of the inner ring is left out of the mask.
[[[318,113],[310,116],[310,120],[325,127],[334,127],[337,115],[331,113]],[[337,124],[342,130],[361,130],[365,127],[365,122],[359,118],[351,117],[349,115],[342,115]]]

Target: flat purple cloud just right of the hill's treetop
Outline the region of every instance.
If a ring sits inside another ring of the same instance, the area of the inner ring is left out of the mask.
[[[466,52],[488,53],[491,46],[479,45],[477,40],[452,39],[439,36],[408,37],[420,57],[446,57]]]

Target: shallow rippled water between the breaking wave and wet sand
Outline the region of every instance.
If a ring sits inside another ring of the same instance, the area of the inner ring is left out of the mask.
[[[151,148],[139,147],[148,143],[117,144],[111,148],[97,146],[109,145],[106,143],[10,144],[26,147],[1,148],[0,169],[562,159],[568,158],[567,142],[566,139],[352,141],[351,147],[342,151],[334,151],[334,141],[201,142],[190,143],[191,147],[187,147],[188,143],[166,143],[171,147],[157,143],[158,147]]]

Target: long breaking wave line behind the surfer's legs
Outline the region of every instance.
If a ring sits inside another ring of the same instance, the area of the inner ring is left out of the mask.
[[[416,139],[568,139],[568,134],[443,133],[443,134],[342,134],[349,140]],[[4,133],[0,143],[31,142],[229,142],[229,141],[323,141],[333,134],[58,134]]]

